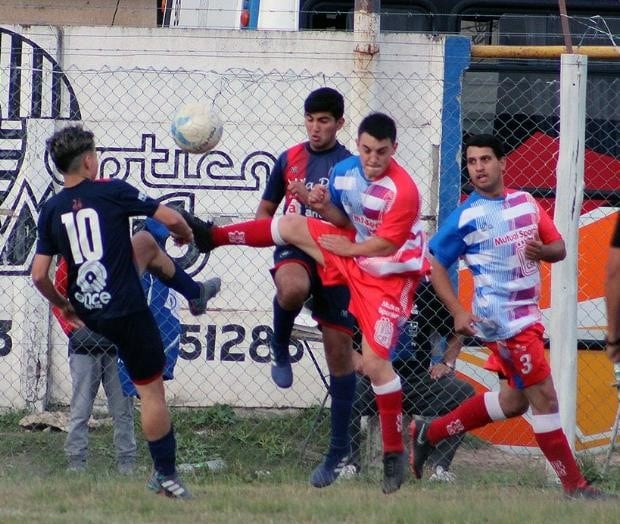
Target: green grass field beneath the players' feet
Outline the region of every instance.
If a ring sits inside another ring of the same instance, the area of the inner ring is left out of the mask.
[[[146,446],[133,476],[114,469],[111,433],[91,432],[91,459],[85,473],[68,473],[62,432],[27,432],[21,414],[0,416],[0,523],[614,523],[620,501],[567,501],[548,486],[544,468],[485,460],[491,450],[468,442],[458,481],[437,485],[409,478],[390,496],[381,493],[375,473],[338,481],[321,490],[307,476],[324,442],[310,442],[303,457],[295,435],[307,434],[312,410],[296,415],[238,417],[218,406],[177,411],[179,462],[221,457],[222,472],[205,468],[185,473],[194,494],[189,501],[158,497],[145,488],[150,473]],[[305,433],[304,433],[305,431]],[[465,445],[463,446],[465,447]],[[603,478],[595,461],[584,461],[589,478],[620,491],[620,468]]]

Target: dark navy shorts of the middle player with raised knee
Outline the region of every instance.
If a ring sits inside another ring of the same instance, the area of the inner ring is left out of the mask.
[[[301,264],[310,277],[310,298],[306,305],[320,325],[352,334],[355,320],[349,313],[350,293],[347,286],[324,286],[316,270],[316,261],[295,246],[277,246],[273,254],[272,276],[283,264]]]

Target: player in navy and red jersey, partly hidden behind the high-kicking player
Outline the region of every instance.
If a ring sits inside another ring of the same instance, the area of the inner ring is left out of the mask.
[[[335,89],[312,91],[304,102],[304,123],[308,140],[280,155],[267,181],[256,218],[270,218],[284,200],[284,213],[318,216],[307,206],[314,185],[326,186],[332,167],[349,156],[349,150],[336,138],[344,124],[344,99]],[[295,196],[293,196],[295,192]],[[271,270],[276,285],[273,300],[271,376],[281,388],[293,383],[289,341],[295,318],[308,302],[318,321],[330,372],[331,442],[321,464],[310,477],[313,486],[324,487],[337,477],[339,464],[349,453],[349,419],[355,392],[352,360],[353,320],[348,312],[346,286],[323,286],[312,257],[293,245],[277,246]]]

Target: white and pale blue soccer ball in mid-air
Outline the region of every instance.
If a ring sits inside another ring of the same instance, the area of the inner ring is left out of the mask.
[[[177,146],[188,153],[207,153],[217,146],[224,126],[219,115],[206,104],[194,102],[174,115],[170,132]]]

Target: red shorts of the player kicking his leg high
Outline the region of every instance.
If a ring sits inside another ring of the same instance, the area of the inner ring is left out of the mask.
[[[342,229],[322,220],[309,218],[310,235],[318,244],[321,235],[342,235],[354,240],[353,230]],[[325,265],[318,266],[323,285],[346,284],[351,293],[349,311],[355,316],[364,338],[381,358],[389,360],[396,347],[401,326],[413,306],[418,280],[411,275],[369,275],[352,257],[341,257],[319,249]]]

